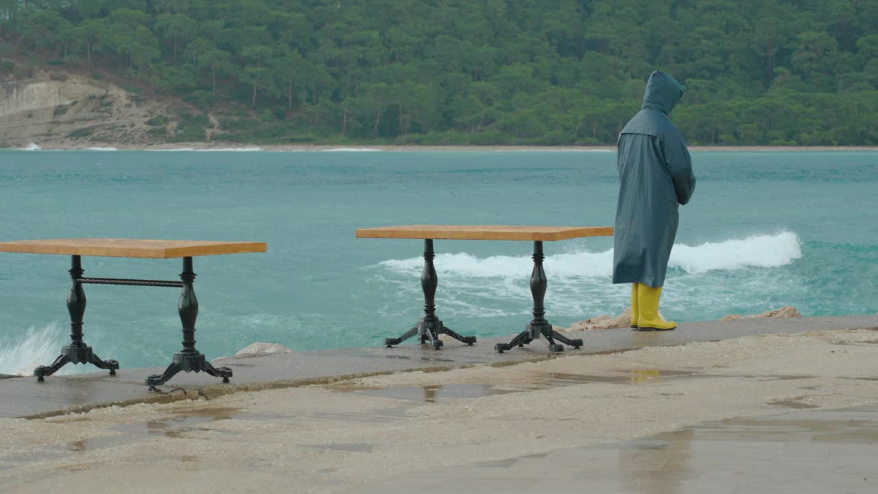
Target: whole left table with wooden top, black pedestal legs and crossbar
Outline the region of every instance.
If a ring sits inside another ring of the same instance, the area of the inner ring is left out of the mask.
[[[232,377],[232,369],[213,367],[205,355],[195,349],[195,320],[198,318],[198,299],[195,296],[195,273],[192,272],[192,258],[195,256],[212,256],[217,254],[241,254],[245,252],[264,252],[263,242],[206,242],[187,240],[131,240],[119,238],[69,238],[55,240],[21,240],[18,242],[0,243],[0,251],[28,254],[59,254],[71,256],[70,278],[73,285],[67,297],[67,309],[70,313],[70,345],[61,349],[59,356],[51,366],[40,366],[33,374],[37,381],[44,381],[45,376],[52,375],[67,364],[92,364],[95,367],[108,369],[111,375],[116,374],[119,362],[101,360],[91,351],[91,347],[83,341],[83,315],[85,313],[84,284],[94,285],[130,285],[140,287],[178,287],[183,288],[177,311],[183,323],[183,350],[174,355],[174,361],[163,374],[150,375],[146,383],[150,390],[155,386],[169,381],[175,374],[185,372],[202,372],[222,377],[228,382]],[[100,256],[112,258],[183,258],[181,281],[165,280],[124,280],[119,278],[83,278],[82,256]]]

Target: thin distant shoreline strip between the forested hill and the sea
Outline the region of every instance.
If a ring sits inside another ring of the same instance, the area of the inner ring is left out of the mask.
[[[101,143],[53,146],[47,144],[39,149],[27,147],[10,150],[72,151],[82,149],[119,151],[174,151],[174,150],[235,150],[235,151],[530,151],[530,152],[615,152],[615,146],[417,146],[392,144],[245,144],[240,142],[175,142],[151,145]],[[693,152],[838,152],[878,151],[878,146],[690,146]]]

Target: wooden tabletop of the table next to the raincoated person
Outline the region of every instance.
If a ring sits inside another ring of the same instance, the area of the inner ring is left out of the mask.
[[[612,227],[510,227],[497,225],[405,225],[356,230],[357,238],[552,241],[613,236]]]

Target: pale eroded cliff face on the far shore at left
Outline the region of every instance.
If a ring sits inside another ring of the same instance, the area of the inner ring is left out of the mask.
[[[37,73],[0,83],[0,148],[132,146],[161,142],[147,120],[165,114],[155,101],[83,76]]]

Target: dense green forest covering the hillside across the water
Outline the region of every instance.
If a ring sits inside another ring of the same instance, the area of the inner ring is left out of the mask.
[[[0,0],[4,57],[240,142],[612,143],[663,69],[690,143],[878,144],[876,0]]]

